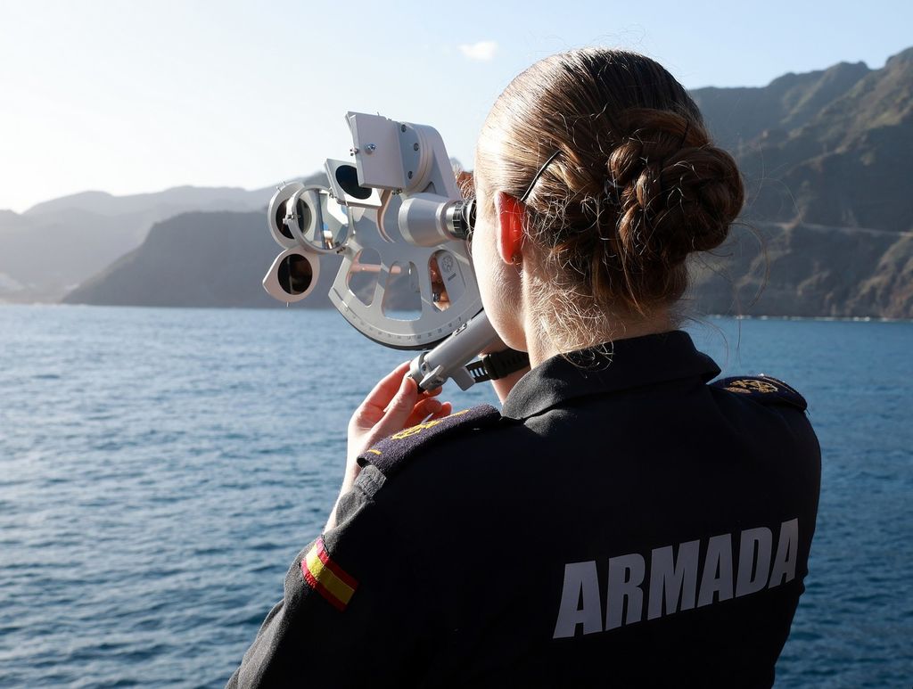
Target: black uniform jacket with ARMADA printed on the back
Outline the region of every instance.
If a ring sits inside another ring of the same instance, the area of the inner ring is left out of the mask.
[[[820,450],[789,386],[718,375],[619,340],[378,444],[229,686],[771,686]]]

